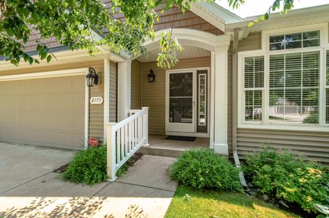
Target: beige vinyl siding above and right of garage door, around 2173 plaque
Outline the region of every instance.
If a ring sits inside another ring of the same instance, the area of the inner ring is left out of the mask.
[[[103,72],[104,62],[84,62],[76,64],[63,64],[56,66],[38,66],[36,64],[28,68],[18,68],[17,70],[0,71],[0,76],[10,74],[27,74],[32,72],[47,72],[53,70],[69,70],[74,68],[95,68],[99,74],[99,85],[90,87],[89,94],[91,96],[103,97]],[[84,82],[84,81],[83,81]],[[110,62],[110,122],[117,122],[117,64]],[[103,141],[103,104],[89,105],[89,131],[88,137],[97,137],[99,141]]]

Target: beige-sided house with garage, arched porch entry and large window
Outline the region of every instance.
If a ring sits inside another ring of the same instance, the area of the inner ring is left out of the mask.
[[[269,144],[328,163],[328,11],[321,5],[272,14],[249,28],[253,17],[200,1],[184,14],[160,14],[147,55],[103,46],[106,53],[91,57],[49,39],[58,59],[49,64],[16,67],[0,57],[0,140],[79,150],[90,137],[110,138],[129,144],[111,153],[120,159],[147,133],[195,136],[220,154],[243,156]],[[172,25],[183,51],[163,70],[158,40]],[[32,55],[38,37],[26,46]],[[93,87],[86,85],[89,68],[99,75]]]

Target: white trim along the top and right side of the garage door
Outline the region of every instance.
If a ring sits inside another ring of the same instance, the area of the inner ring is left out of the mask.
[[[76,68],[70,70],[56,70],[46,72],[33,72],[27,74],[13,74],[7,76],[1,76],[0,82],[4,81],[18,81],[27,79],[42,79],[42,78],[53,78],[53,77],[69,77],[79,76],[88,74],[88,68]],[[88,148],[88,125],[89,125],[89,89],[85,81],[85,93],[84,93],[84,147]]]

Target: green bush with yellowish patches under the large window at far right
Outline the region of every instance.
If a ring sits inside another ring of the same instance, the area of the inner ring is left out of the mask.
[[[326,203],[329,196],[328,167],[288,150],[263,148],[250,154],[243,171],[263,193],[300,204],[308,212],[316,212],[316,204]]]

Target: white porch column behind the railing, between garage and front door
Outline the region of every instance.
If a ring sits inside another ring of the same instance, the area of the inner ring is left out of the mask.
[[[130,59],[118,63],[118,122],[127,118],[130,109],[131,65]]]

